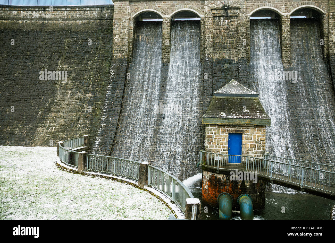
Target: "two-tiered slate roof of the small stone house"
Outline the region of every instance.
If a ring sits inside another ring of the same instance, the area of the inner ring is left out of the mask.
[[[256,92],[231,80],[213,93],[202,122],[221,125],[270,125],[271,119]]]

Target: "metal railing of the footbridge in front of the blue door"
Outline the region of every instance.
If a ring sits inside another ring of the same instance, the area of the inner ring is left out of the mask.
[[[285,181],[300,187],[310,187],[314,189],[335,192],[335,172],[333,165],[320,164],[320,169],[312,162],[299,161],[289,158],[264,155],[262,157],[251,157],[245,155],[216,154],[212,152],[200,151],[200,163],[207,167],[219,169],[239,169],[257,172],[258,175],[266,176],[272,180]],[[268,159],[268,158],[273,158]],[[280,159],[278,159],[280,158]],[[294,164],[294,162],[300,164]],[[304,162],[304,163],[302,163]],[[306,166],[305,166],[306,165]],[[309,167],[307,166],[309,165]],[[311,167],[313,165],[313,167]],[[315,168],[316,167],[316,168]]]

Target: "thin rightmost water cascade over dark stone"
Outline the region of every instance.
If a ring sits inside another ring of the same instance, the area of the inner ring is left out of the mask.
[[[297,101],[305,151],[304,160],[334,164],[335,161],[335,100],[331,77],[323,61],[319,21],[292,19],[291,51],[297,71]]]

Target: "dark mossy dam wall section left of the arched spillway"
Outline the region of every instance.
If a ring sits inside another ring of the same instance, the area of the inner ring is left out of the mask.
[[[95,136],[112,30],[113,7],[0,8],[0,144]],[[40,80],[45,69],[67,71],[67,80]]]

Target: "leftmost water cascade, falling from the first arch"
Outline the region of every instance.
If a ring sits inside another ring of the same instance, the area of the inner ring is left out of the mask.
[[[161,22],[138,22],[112,156],[149,161],[161,76]]]

